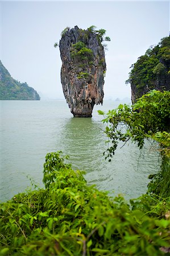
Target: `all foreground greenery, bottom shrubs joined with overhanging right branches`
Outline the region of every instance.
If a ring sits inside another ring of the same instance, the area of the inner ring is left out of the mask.
[[[169,93],[154,90],[103,120],[110,158],[119,141],[140,148],[144,139],[159,142],[163,164],[146,195],[129,204],[113,199],[88,186],[83,172],[64,163],[67,156],[49,153],[45,188],[0,205],[0,255],[170,255]]]

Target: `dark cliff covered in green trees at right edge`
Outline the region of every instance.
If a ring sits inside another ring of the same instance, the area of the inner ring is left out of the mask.
[[[170,90],[170,37],[161,39],[157,46],[147,49],[131,68],[126,83],[131,85],[133,104],[150,90]]]

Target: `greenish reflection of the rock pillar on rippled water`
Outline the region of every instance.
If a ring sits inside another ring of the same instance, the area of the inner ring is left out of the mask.
[[[102,123],[92,118],[71,118],[64,126],[63,151],[70,156],[75,168],[93,171],[102,158],[105,138],[101,127]]]

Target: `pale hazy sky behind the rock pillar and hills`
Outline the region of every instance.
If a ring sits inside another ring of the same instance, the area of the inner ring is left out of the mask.
[[[169,35],[169,1],[1,2],[0,57],[11,76],[49,98],[63,98],[59,43],[65,27],[104,28],[105,98],[131,97],[131,64]]]

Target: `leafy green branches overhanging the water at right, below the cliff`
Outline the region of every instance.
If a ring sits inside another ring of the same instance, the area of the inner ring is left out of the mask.
[[[104,115],[102,111],[99,114]],[[131,139],[139,148],[145,139],[155,139],[161,149],[169,156],[170,141],[170,92],[152,90],[139,98],[132,106],[120,104],[117,109],[109,110],[103,119],[107,123],[105,133],[110,143],[107,157],[111,158],[118,142]],[[106,153],[106,152],[105,152]]]

